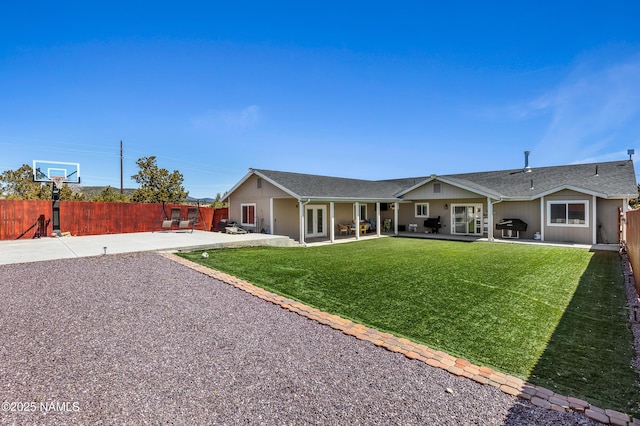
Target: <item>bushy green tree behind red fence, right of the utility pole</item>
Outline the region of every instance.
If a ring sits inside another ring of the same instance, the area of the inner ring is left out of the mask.
[[[139,158],[136,164],[140,170],[131,176],[131,179],[140,184],[140,187],[131,196],[133,201],[182,203],[189,195],[182,186],[184,181],[182,173],[178,170],[169,173],[169,170],[159,168],[154,155]]]

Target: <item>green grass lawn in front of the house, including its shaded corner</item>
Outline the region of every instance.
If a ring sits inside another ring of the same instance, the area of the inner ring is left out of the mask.
[[[381,238],[183,256],[557,393],[639,413],[616,252]]]

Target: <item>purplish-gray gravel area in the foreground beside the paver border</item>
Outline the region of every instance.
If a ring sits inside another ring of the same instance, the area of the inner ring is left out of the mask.
[[[0,283],[2,424],[597,424],[153,253],[2,265]]]

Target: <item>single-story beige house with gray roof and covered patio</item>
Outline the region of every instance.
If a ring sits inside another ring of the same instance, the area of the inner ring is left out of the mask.
[[[525,154],[519,169],[377,181],[249,169],[224,200],[243,228],[301,244],[364,231],[624,240],[624,214],[638,197],[633,161],[531,168]]]

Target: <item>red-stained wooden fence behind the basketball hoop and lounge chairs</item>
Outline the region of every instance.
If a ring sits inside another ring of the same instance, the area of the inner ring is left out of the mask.
[[[189,207],[193,206],[60,201],[60,231],[77,236],[159,231],[172,208],[179,208],[186,218]],[[48,236],[53,230],[51,216],[51,201],[0,200],[0,240]],[[227,208],[200,207],[195,229],[215,231],[215,224],[227,217]]]

